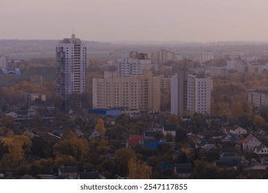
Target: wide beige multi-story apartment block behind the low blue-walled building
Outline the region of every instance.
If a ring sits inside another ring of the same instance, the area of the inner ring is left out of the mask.
[[[118,77],[104,72],[103,79],[93,78],[93,108],[129,108],[140,112],[160,110],[160,77],[150,70],[143,74]]]

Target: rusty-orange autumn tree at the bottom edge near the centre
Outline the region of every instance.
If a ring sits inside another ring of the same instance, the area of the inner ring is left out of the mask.
[[[152,175],[152,167],[135,157],[129,161],[128,166],[130,179],[150,179]]]

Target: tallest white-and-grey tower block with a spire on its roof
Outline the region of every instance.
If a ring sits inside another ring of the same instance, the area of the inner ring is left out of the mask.
[[[56,92],[63,99],[85,92],[87,48],[74,34],[56,47]]]

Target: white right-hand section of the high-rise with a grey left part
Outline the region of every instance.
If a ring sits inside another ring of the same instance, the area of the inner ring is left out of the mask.
[[[188,75],[187,110],[197,113],[210,114],[210,97],[212,80],[210,77]]]

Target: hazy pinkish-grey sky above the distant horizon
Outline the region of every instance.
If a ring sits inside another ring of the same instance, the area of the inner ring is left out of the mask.
[[[9,0],[0,39],[268,41],[268,1]]]

